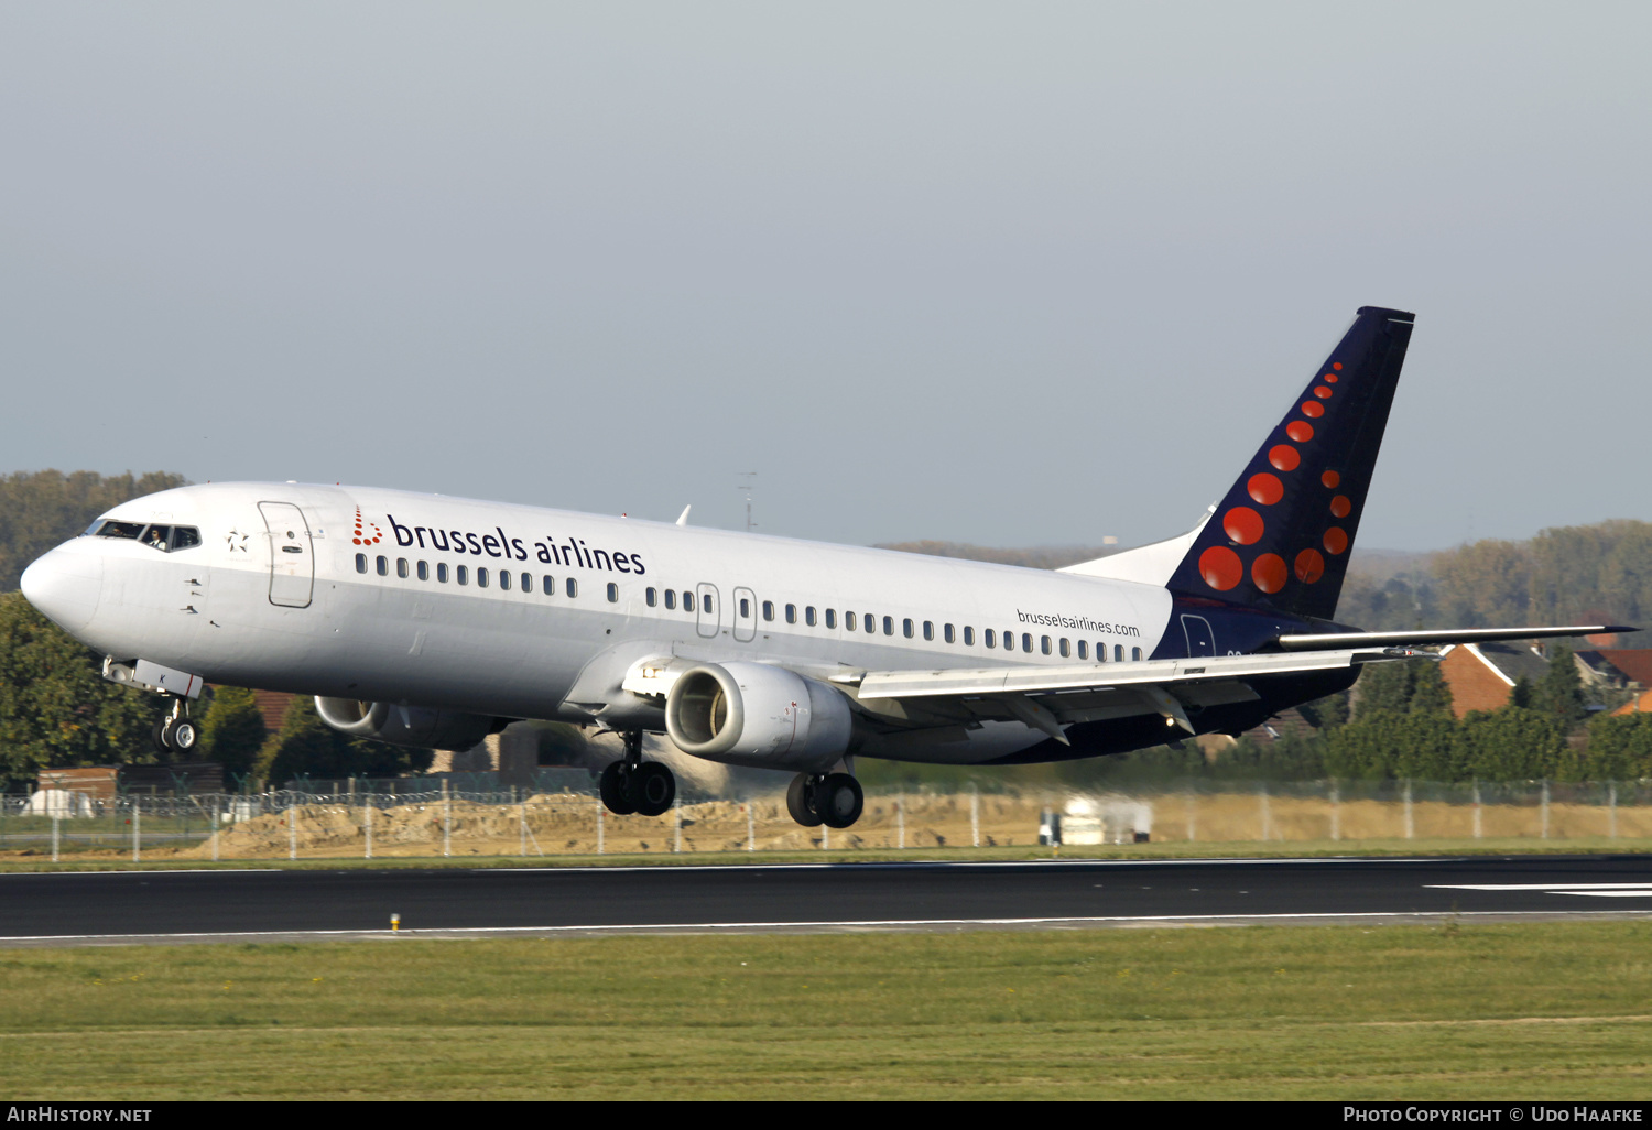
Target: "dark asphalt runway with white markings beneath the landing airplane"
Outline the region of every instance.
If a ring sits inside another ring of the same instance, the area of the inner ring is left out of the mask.
[[[1652,917],[1652,857],[0,876],[0,945]]]

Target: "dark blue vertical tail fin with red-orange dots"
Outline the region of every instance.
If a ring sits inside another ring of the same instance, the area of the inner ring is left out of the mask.
[[[1414,314],[1366,306],[1199,530],[1168,588],[1332,620]]]

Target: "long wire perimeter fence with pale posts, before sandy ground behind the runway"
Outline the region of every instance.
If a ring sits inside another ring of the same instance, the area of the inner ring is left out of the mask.
[[[1188,781],[1112,791],[871,793],[847,829],[801,828],[783,793],[615,816],[593,791],[269,791],[0,798],[0,854],[375,859],[1128,843],[1652,841],[1652,781]],[[1626,844],[1629,846],[1629,844]]]

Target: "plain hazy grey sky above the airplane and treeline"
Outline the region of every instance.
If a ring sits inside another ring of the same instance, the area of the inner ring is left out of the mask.
[[[1358,306],[1360,542],[1652,519],[1647,5],[0,7],[0,471],[1125,544]]]

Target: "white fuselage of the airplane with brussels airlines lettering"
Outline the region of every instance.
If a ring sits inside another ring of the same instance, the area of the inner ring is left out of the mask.
[[[278,529],[294,515],[306,529]],[[1130,661],[1171,615],[1151,585],[401,491],[205,484],[106,517],[197,527],[202,544],[79,537],[43,558],[58,595],[36,603],[99,651],[218,684],[512,719],[601,717],[649,656],[823,679],[1070,664],[1080,643]],[[1041,737],[1003,724],[923,760]]]

